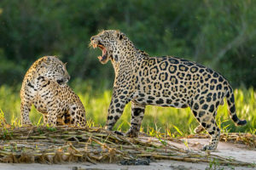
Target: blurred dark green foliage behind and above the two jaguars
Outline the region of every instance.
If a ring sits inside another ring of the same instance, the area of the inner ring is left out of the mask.
[[[112,65],[101,65],[102,52],[88,44],[118,29],[150,55],[195,60],[234,87],[255,88],[255,19],[253,0],[1,0],[0,84],[18,84],[36,59],[58,55],[73,81],[111,88]]]

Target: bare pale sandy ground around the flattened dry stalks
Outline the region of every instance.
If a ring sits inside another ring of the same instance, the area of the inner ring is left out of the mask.
[[[143,138],[143,137],[141,137]],[[148,140],[148,139],[147,139]],[[154,140],[154,139],[152,139]],[[189,149],[189,150],[200,150],[204,144],[208,143],[208,139],[183,139],[183,141],[187,142],[189,148],[183,142],[169,142],[179,148]],[[216,151],[212,152],[212,155],[218,156],[226,156],[231,157],[239,161],[246,161],[250,163],[256,164],[256,149],[248,149],[244,144],[231,144],[220,142],[218,144],[218,148]],[[149,166],[121,166],[117,164],[91,164],[91,163],[73,163],[73,164],[62,164],[62,165],[44,165],[44,164],[7,164],[0,163],[0,169],[4,170],[34,170],[34,169],[42,169],[42,170],[100,170],[100,169],[145,169],[145,170],[164,170],[164,169],[175,169],[175,170],[192,170],[192,169],[206,169],[209,167],[208,163],[190,163],[183,161],[151,161]],[[256,167],[233,167],[233,166],[218,166],[213,165],[213,169],[254,169]]]

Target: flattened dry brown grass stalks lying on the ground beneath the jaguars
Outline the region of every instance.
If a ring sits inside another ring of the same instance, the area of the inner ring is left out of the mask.
[[[234,135],[223,139],[234,139]],[[255,136],[236,134],[236,140],[253,139]],[[0,128],[1,162],[64,163],[90,161],[117,162],[150,158],[189,162],[211,162],[220,165],[254,166],[209,152],[182,150],[161,139],[131,139],[108,132],[102,127],[2,127]]]

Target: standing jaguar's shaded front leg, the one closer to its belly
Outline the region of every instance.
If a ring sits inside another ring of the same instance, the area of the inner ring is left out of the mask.
[[[131,127],[126,133],[128,137],[137,137],[143,121],[145,105],[131,102]]]

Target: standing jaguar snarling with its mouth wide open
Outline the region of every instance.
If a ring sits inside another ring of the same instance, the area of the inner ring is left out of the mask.
[[[91,37],[90,46],[102,49],[98,59],[102,64],[110,59],[115,71],[106,124],[108,130],[112,130],[130,101],[131,127],[126,133],[129,137],[137,137],[146,105],[190,107],[201,124],[196,131],[205,129],[211,135],[210,143],[203,150],[217,148],[220,130],[215,116],[224,97],[233,122],[236,125],[247,123],[236,116],[230,83],[206,66],[172,56],[150,57],[137,49],[124,33],[115,30],[102,31]]]

